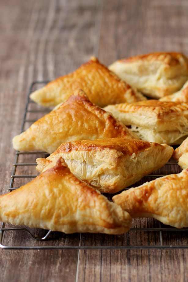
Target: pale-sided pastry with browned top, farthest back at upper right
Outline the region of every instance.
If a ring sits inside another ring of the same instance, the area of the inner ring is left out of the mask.
[[[154,52],[118,60],[109,70],[146,96],[160,98],[182,88],[188,79],[188,58],[181,53]]]

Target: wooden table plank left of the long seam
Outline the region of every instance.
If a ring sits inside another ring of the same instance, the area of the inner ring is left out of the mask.
[[[96,1],[2,1],[0,9],[0,186],[9,186],[14,150],[11,140],[20,132],[29,86],[73,71],[93,54],[97,36]],[[9,19],[9,20],[8,20]],[[36,117],[36,115],[35,115]],[[31,118],[31,115],[27,115]],[[37,116],[38,118],[38,116]],[[6,119],[6,121],[5,121]],[[8,126],[7,126],[8,125]],[[29,126],[27,123],[26,127]],[[19,157],[35,162],[36,156]],[[16,174],[35,174],[35,167],[17,167]],[[16,179],[14,187],[29,179]],[[7,225],[8,226],[8,225]],[[32,230],[42,236],[43,230]],[[56,234],[35,242],[22,231],[10,232],[7,245],[78,245],[79,234]],[[77,250],[0,250],[1,281],[75,281]]]

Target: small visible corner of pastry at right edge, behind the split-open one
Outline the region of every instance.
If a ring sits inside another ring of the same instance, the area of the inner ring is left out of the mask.
[[[164,96],[159,99],[160,101],[173,101],[188,103],[188,81],[183,85],[182,89],[171,95]]]

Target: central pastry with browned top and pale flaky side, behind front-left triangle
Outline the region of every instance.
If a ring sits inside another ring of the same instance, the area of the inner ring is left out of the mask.
[[[126,138],[71,141],[61,144],[47,159],[36,160],[42,171],[61,156],[79,179],[104,193],[116,193],[162,167],[173,148]]]

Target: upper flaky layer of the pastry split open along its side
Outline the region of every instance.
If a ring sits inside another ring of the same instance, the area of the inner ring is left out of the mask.
[[[143,127],[153,125],[155,129],[158,126],[160,131],[175,130],[182,125],[188,126],[187,103],[146,100],[109,105],[104,110],[112,113],[126,125],[136,124]]]

